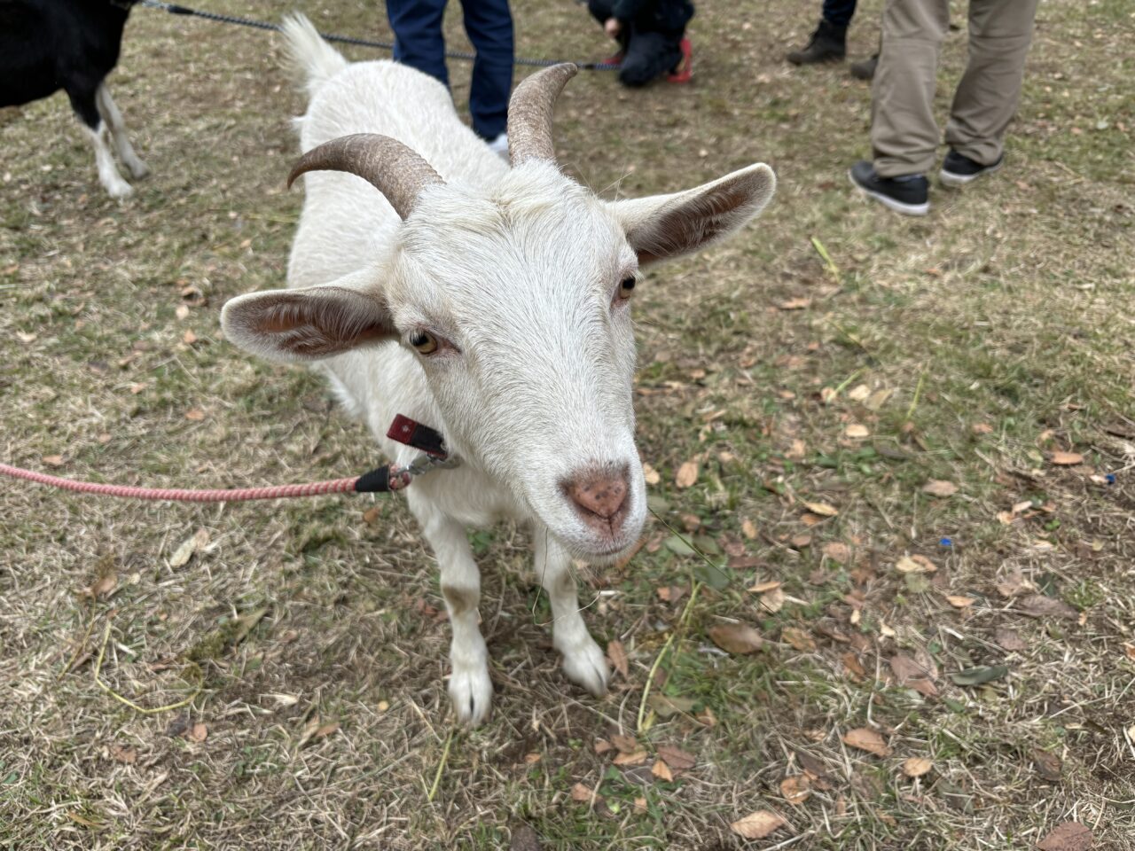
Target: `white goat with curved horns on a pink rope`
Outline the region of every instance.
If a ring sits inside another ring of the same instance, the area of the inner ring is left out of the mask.
[[[284,32],[311,94],[292,177],[320,172],[304,178],[292,288],[232,300],[225,332],[270,359],[321,360],[396,463],[415,455],[385,436],[397,413],[440,431],[460,458],[406,491],[440,567],[460,721],[484,721],[493,697],[465,528],[501,517],[531,529],[564,672],[603,694],[607,665],[570,563],[617,558],[646,516],[631,394],[638,270],[740,228],[772,196],[773,172],[754,165],[673,195],[602,201],[554,159],[552,109],[575,66],[513,94],[510,168],[440,83],[389,61],[350,65],[305,18]]]

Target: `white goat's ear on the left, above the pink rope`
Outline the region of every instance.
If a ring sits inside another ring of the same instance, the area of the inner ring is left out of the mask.
[[[237,296],[225,304],[221,328],[241,348],[272,361],[314,361],[393,339],[397,331],[381,294],[351,283]]]

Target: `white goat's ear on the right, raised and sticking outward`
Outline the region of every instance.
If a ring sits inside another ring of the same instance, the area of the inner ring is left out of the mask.
[[[742,168],[695,189],[611,204],[639,264],[669,260],[709,245],[764,209],[776,188],[764,163]]]

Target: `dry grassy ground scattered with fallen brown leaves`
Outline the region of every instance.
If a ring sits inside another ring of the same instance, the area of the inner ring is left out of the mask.
[[[370,3],[306,10],[387,34]],[[574,3],[514,10],[521,53],[607,49]],[[583,588],[594,634],[628,657],[612,693],[565,688],[512,529],[473,538],[496,710],[453,731],[447,625],[398,499],[8,483],[0,848],[498,849],[527,823],[545,849],[1029,849],[1069,820],[1135,848],[1135,18],[1043,3],[1006,168],[935,188],[914,221],[847,186],[868,90],[781,60],[812,15],[704,3],[692,85],[582,74],[557,112],[562,161],[600,191],[754,160],[780,178],[756,226],[636,302],[659,520]],[[943,111],[964,53],[951,34]],[[302,103],[277,54],[136,11],[111,83],[153,176],[121,205],[65,99],[0,118],[0,458],[202,487],[373,463],[314,378],[218,334],[226,298],[281,284],[299,210],[283,180]],[[468,66],[452,70],[463,101]],[[758,651],[709,640],[734,622]],[[975,667],[995,679],[951,679]],[[859,728],[884,756],[846,743]],[[679,772],[674,747],[696,762]],[[911,758],[928,770],[909,777]],[[730,824],[758,810],[787,824],[747,842]]]

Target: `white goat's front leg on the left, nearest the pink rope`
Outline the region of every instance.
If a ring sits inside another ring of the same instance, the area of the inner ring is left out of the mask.
[[[449,613],[453,643],[449,647],[449,699],[457,721],[480,724],[493,706],[493,681],[489,680],[489,652],[477,624],[477,606],[481,598],[481,575],[473,561],[465,529],[438,511],[431,503],[413,497],[407,502],[422,534],[437,557],[442,573],[442,597]]]

